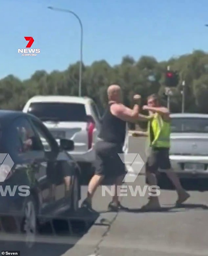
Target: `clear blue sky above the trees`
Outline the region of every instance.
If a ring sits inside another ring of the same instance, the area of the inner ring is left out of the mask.
[[[0,78],[62,71],[80,59],[78,20],[47,6],[70,9],[81,18],[86,65],[101,59],[118,64],[125,55],[161,61],[194,49],[208,51],[207,0],[0,0]],[[31,48],[41,50],[37,56],[17,52],[26,47],[25,36],[34,38]]]

